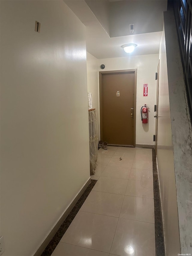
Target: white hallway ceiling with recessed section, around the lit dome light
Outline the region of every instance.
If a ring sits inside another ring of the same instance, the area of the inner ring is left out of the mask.
[[[87,51],[98,59],[159,53],[167,0],[67,0],[85,25]],[[129,24],[134,23],[133,34]],[[137,44],[125,53],[123,44]]]

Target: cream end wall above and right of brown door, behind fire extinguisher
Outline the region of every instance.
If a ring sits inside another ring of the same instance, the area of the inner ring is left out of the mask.
[[[137,106],[136,106],[136,144],[154,145],[153,134],[155,134],[154,105],[156,104],[155,72],[158,66],[158,54],[129,56],[110,59],[99,59],[98,66],[105,65],[103,71],[123,70],[137,68]],[[102,71],[99,68],[99,71]],[[143,96],[143,84],[148,83],[148,96]],[[141,107],[148,104],[148,124],[142,124]]]

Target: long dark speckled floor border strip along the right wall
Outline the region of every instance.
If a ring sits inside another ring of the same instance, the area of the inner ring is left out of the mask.
[[[159,182],[157,174],[157,164],[155,149],[152,149],[153,156],[153,193],[154,193],[154,209],[155,209],[155,254],[156,256],[165,255],[163,222],[161,214],[161,200],[159,195]]]

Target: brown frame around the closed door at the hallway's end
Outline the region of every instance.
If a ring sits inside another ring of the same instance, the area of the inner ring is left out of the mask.
[[[112,71],[100,71],[99,72],[99,101],[100,101],[100,136],[103,139],[103,75],[104,74],[123,74],[133,73],[135,74],[134,84],[134,147],[136,145],[136,97],[137,97],[137,68],[134,69],[123,69],[123,70],[112,70]]]

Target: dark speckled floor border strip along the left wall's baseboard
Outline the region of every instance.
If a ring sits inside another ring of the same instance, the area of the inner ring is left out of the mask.
[[[76,205],[73,207],[67,218],[64,220],[63,224],[61,224],[61,227],[58,229],[57,233],[53,236],[41,256],[50,256],[53,251],[55,250],[56,246],[60,242],[61,238],[63,237],[64,233],[67,231],[67,228],[75,218],[77,212],[85,202],[86,198],[88,197],[89,193],[91,192],[92,188],[94,187],[97,180],[92,179],[91,183],[88,185],[88,187],[85,189],[85,192],[82,194],[82,196],[77,201]]]

